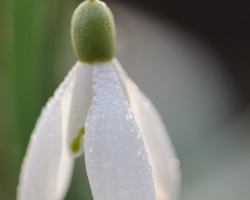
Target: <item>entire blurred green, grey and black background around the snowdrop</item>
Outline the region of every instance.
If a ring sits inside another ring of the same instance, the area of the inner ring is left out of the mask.
[[[14,200],[41,108],[76,62],[79,0],[0,1],[0,200]],[[250,199],[250,2],[107,0],[117,57],[181,161],[181,200]],[[68,200],[90,200],[83,157]]]

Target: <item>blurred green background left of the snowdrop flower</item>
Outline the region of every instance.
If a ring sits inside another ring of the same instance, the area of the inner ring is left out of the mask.
[[[15,199],[20,166],[36,119],[76,60],[69,31],[78,3],[0,1],[1,200]]]

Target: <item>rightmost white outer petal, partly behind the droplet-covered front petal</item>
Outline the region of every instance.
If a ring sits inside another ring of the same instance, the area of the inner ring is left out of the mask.
[[[177,199],[180,187],[179,160],[166,128],[151,101],[127,76],[119,62],[112,65],[127,94],[136,122],[142,131],[155,184],[156,200]]]

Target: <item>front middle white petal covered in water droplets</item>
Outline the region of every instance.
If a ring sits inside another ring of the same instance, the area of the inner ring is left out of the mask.
[[[93,69],[84,150],[95,200],[155,199],[143,139],[110,63]]]

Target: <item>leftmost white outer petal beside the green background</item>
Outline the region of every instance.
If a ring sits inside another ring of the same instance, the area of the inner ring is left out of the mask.
[[[62,121],[69,110],[68,97],[77,68],[75,65],[60,84],[37,121],[21,169],[18,200],[58,200],[65,193],[73,160],[62,149],[62,142],[66,140]],[[66,111],[62,111],[63,109]],[[64,183],[58,183],[61,180]]]

